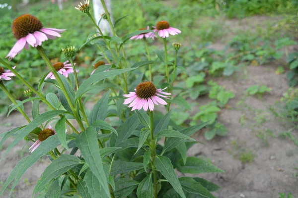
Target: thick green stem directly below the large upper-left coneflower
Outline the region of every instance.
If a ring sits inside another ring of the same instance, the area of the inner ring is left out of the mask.
[[[46,62],[46,64],[48,65],[48,67],[51,68],[53,75],[55,76],[57,82],[60,85],[61,91],[64,93],[65,98],[67,99],[67,101],[68,101],[68,103],[69,103],[69,105],[70,105],[70,107],[71,107],[71,109],[72,109],[72,111],[74,113],[74,118],[76,119],[76,121],[77,121],[79,127],[81,128],[81,130],[84,131],[85,130],[85,127],[84,127],[84,125],[83,125],[83,123],[82,123],[82,121],[81,121],[81,119],[80,119],[80,117],[78,115],[78,112],[76,111],[76,108],[74,107],[74,104],[73,104],[70,96],[68,95],[68,93],[66,91],[66,88],[65,88],[65,86],[64,86],[64,84],[63,84],[60,76],[58,75],[57,71],[55,70],[54,66],[52,65],[50,59],[48,58],[48,56],[47,56],[47,54],[45,52],[45,50],[41,46],[37,46],[36,49],[39,52],[40,56],[43,58],[43,60]]]

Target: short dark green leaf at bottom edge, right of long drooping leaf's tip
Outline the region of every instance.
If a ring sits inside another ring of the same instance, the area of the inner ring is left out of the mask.
[[[120,178],[115,183],[114,195],[116,198],[127,198],[138,186],[139,182],[130,179],[122,179]]]

